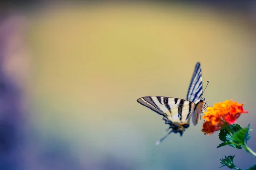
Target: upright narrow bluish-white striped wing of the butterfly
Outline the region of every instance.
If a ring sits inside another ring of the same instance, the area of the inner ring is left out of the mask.
[[[186,99],[190,102],[196,102],[198,99],[202,97],[203,94],[203,79],[202,79],[202,71],[201,71],[201,65],[199,62],[195,65],[195,70],[192,75],[190,85],[189,85],[189,91],[187,94]]]

